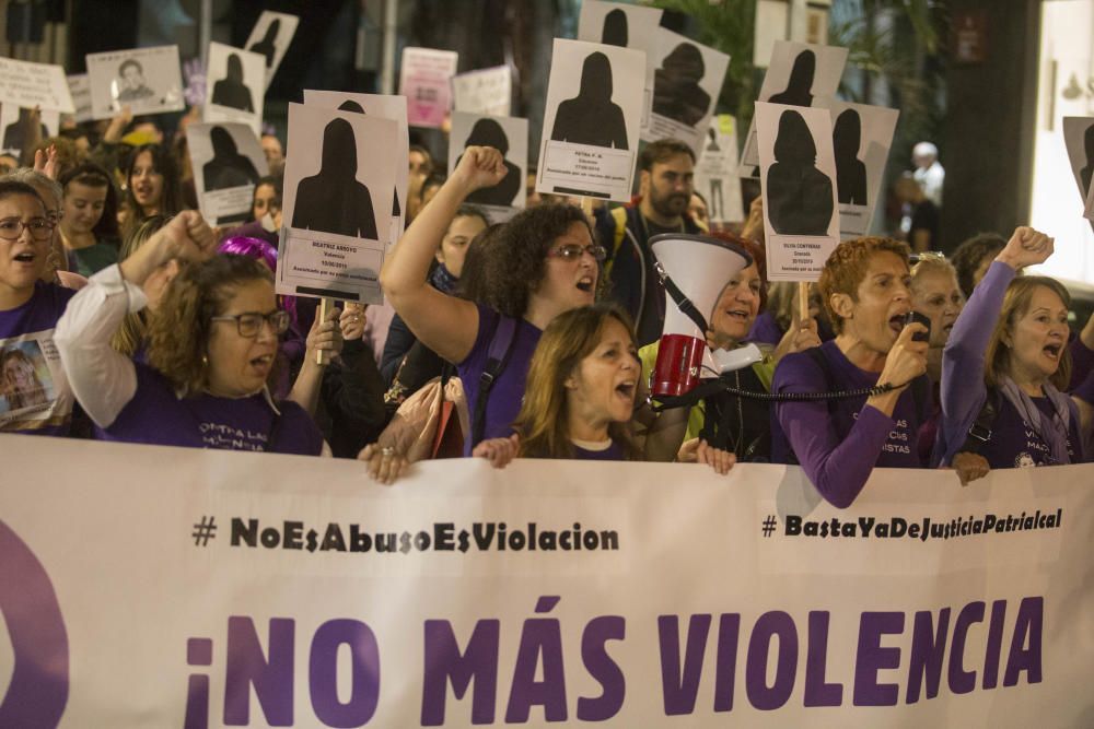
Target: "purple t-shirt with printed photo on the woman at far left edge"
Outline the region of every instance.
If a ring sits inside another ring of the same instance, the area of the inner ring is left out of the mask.
[[[68,435],[73,398],[54,328],[73,295],[39,282],[30,301],[0,311],[0,433]]]

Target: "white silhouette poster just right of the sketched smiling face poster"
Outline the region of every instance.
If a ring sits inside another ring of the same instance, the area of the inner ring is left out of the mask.
[[[263,133],[265,61],[258,54],[222,43],[209,44],[203,121],[237,121]]]

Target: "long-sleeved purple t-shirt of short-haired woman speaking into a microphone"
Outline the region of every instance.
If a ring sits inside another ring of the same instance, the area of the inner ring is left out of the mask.
[[[821,352],[837,390],[877,384],[878,373],[853,365],[835,340],[822,344]],[[850,506],[874,467],[922,468],[916,437],[927,413],[917,411],[913,387],[900,393],[892,418],[865,404],[865,396],[835,400],[830,410],[825,400],[777,402],[771,418],[772,462],[790,462],[793,454],[821,495],[840,508]],[[784,356],[771,384],[772,392],[824,392],[828,388],[825,373],[808,352]],[[928,396],[921,407],[926,411],[929,404]]]

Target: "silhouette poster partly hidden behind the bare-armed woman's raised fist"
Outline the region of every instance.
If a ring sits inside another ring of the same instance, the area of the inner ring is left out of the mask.
[[[512,217],[524,208],[528,169],[528,120],[480,114],[452,115],[449,169],[455,169],[468,146],[492,146],[505,157],[505,176],[493,187],[472,192],[467,204],[481,208],[491,223]]]

